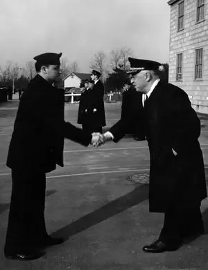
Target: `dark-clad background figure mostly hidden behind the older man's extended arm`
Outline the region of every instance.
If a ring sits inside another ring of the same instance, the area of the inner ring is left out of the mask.
[[[129,127],[127,134],[132,134],[135,141],[145,140],[142,94],[135,90],[135,87],[129,82],[123,86],[121,118],[134,118],[134,124]]]

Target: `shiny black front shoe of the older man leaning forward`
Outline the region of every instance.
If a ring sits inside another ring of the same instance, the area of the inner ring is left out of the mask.
[[[155,241],[153,244],[150,244],[149,246],[144,246],[143,251],[150,252],[150,253],[162,253],[165,251],[176,251],[179,245],[170,246],[164,244],[162,241]]]

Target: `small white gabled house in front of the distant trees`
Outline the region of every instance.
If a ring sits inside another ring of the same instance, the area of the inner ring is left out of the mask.
[[[71,72],[67,77],[63,79],[64,88],[80,87],[80,82],[85,79],[90,79],[88,73]]]

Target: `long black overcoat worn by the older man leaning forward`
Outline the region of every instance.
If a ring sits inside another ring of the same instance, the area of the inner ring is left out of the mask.
[[[200,120],[187,93],[159,82],[144,108],[144,118],[150,150],[150,212],[198,206],[207,197],[207,189],[198,142]],[[110,129],[115,142],[124,136],[129,123],[121,119]]]

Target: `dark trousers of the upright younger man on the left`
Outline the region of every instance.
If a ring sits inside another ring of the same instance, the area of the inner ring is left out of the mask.
[[[6,254],[31,252],[48,237],[44,219],[45,191],[45,173],[12,170]]]

